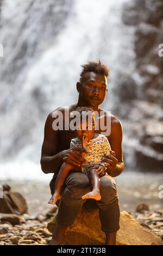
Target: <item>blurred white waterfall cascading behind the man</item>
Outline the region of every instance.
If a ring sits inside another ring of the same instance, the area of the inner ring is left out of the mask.
[[[80,65],[87,60],[108,65],[103,107],[114,111],[118,74],[134,70],[134,28],[122,22],[127,2],[2,1],[1,179],[45,180],[39,161],[46,117],[77,101]]]

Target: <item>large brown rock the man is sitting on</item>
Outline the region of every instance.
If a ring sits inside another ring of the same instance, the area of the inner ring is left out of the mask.
[[[56,216],[47,228],[53,232]],[[151,231],[141,227],[126,211],[121,212],[120,230],[117,232],[117,245],[163,245],[162,240]],[[85,208],[76,221],[66,230],[65,245],[104,245],[105,234],[101,231],[98,210]]]

